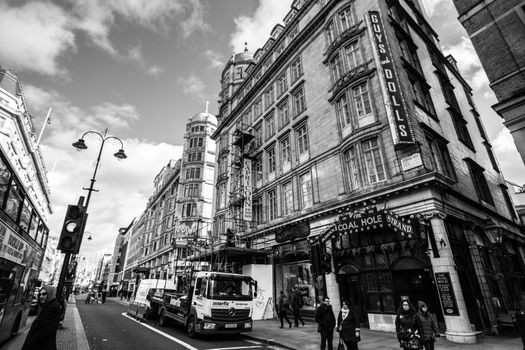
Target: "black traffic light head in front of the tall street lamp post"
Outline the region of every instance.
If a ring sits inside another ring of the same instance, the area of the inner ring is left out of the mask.
[[[58,249],[63,253],[78,253],[82,232],[84,231],[85,208],[81,205],[68,205],[62,232],[58,240]]]

